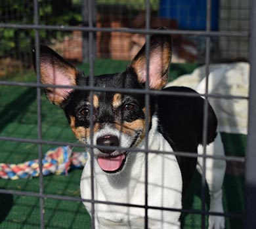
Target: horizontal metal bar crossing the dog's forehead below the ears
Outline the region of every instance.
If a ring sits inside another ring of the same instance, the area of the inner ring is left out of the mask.
[[[162,96],[188,96],[188,97],[212,97],[221,99],[248,99],[248,96],[231,96],[222,94],[196,94],[189,92],[167,92],[163,90],[146,90],[135,88],[100,88],[96,86],[66,86],[66,85],[53,85],[53,84],[38,84],[36,82],[10,82],[0,81],[0,85],[5,86],[26,86],[35,88],[72,88],[75,90],[95,91],[95,92],[120,92],[131,94],[150,94],[150,95],[162,95]]]

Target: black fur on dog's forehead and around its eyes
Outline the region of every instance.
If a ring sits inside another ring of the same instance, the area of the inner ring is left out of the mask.
[[[137,76],[132,69],[127,68],[123,73],[112,75],[100,75],[94,79],[95,86],[99,88],[140,88],[144,87],[137,80]],[[89,85],[87,77],[77,77],[78,86]],[[83,126],[89,128],[90,116],[89,111],[92,108],[90,105],[89,91],[74,90],[68,97],[63,107],[67,118],[75,117],[75,127]],[[93,122],[94,124],[106,123],[123,123],[133,122],[135,120],[145,119],[144,107],[145,96],[143,94],[121,94],[121,104],[118,107],[113,106],[113,99],[116,92],[94,92],[98,97],[98,107],[93,107]],[[152,101],[152,112],[155,110],[154,99]],[[151,118],[150,118],[151,119]]]

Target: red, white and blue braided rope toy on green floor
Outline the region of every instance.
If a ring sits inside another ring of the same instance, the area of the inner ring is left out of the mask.
[[[72,167],[83,167],[87,161],[86,152],[72,152],[67,147],[57,147],[46,152],[42,164],[43,175],[54,173],[56,175],[68,174]],[[31,160],[20,164],[0,164],[0,178],[24,179],[39,176],[39,160]]]

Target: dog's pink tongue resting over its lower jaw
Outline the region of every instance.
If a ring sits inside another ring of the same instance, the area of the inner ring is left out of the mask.
[[[115,158],[101,158],[98,157],[98,165],[104,171],[116,171],[121,166],[123,160],[125,159],[125,155],[119,155]]]

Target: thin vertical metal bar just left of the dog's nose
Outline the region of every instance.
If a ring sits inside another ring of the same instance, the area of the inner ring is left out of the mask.
[[[93,27],[93,0],[88,1],[88,20],[89,20],[89,27]],[[94,78],[93,78],[93,32],[89,32],[89,81],[90,86],[94,85]],[[90,154],[91,154],[91,228],[95,229],[95,182],[94,182],[94,153],[93,153],[93,91],[90,90]]]

